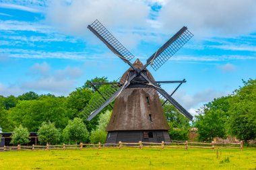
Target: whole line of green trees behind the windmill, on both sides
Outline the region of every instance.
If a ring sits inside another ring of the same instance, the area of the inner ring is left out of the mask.
[[[90,81],[108,82],[108,79],[96,77]],[[18,97],[0,95],[0,126],[3,132],[13,132],[13,136],[15,130],[19,129],[38,132],[41,142],[104,142],[104,130],[110,118],[111,108],[104,108],[101,114],[90,122],[82,114],[93,99],[100,97],[90,85],[90,81],[86,81],[67,97],[38,95],[33,91]],[[97,88],[104,92],[106,86],[97,85]],[[234,90],[232,95],[214,99],[203,105],[197,110],[198,116],[195,116],[192,123],[170,104],[164,105],[164,114],[170,126],[169,134],[172,140],[187,140],[193,127],[198,129],[198,140],[207,141],[214,137],[226,136],[251,140],[256,138],[255,109],[256,80],[249,79],[244,81],[243,87]],[[54,134],[50,135],[51,133]],[[53,136],[55,140],[47,140]],[[12,142],[16,143],[14,140]]]

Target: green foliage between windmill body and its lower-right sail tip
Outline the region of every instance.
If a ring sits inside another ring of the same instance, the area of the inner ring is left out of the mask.
[[[189,120],[170,104],[164,105],[164,113],[170,126],[169,135],[171,140],[188,140]]]

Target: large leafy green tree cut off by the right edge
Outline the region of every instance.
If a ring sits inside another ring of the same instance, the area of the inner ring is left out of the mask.
[[[256,79],[244,81],[230,99],[228,131],[241,140],[256,138]]]

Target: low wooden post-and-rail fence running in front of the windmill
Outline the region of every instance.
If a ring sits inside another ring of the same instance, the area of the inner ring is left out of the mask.
[[[118,144],[59,144],[59,145],[32,145],[32,146],[22,146],[18,144],[18,146],[3,146],[0,147],[0,151],[34,151],[34,150],[54,150],[54,149],[83,149],[83,148],[207,148],[212,149],[214,151],[215,148],[238,148],[241,151],[243,150],[243,141],[241,142],[188,142],[188,141],[177,141],[174,140],[172,142],[164,142],[162,143],[155,143],[155,142],[137,142],[137,143],[129,143],[129,142],[119,142]]]

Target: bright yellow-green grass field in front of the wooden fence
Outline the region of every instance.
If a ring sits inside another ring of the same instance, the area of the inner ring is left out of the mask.
[[[65,151],[7,151],[0,169],[253,169],[256,148],[102,148]]]

